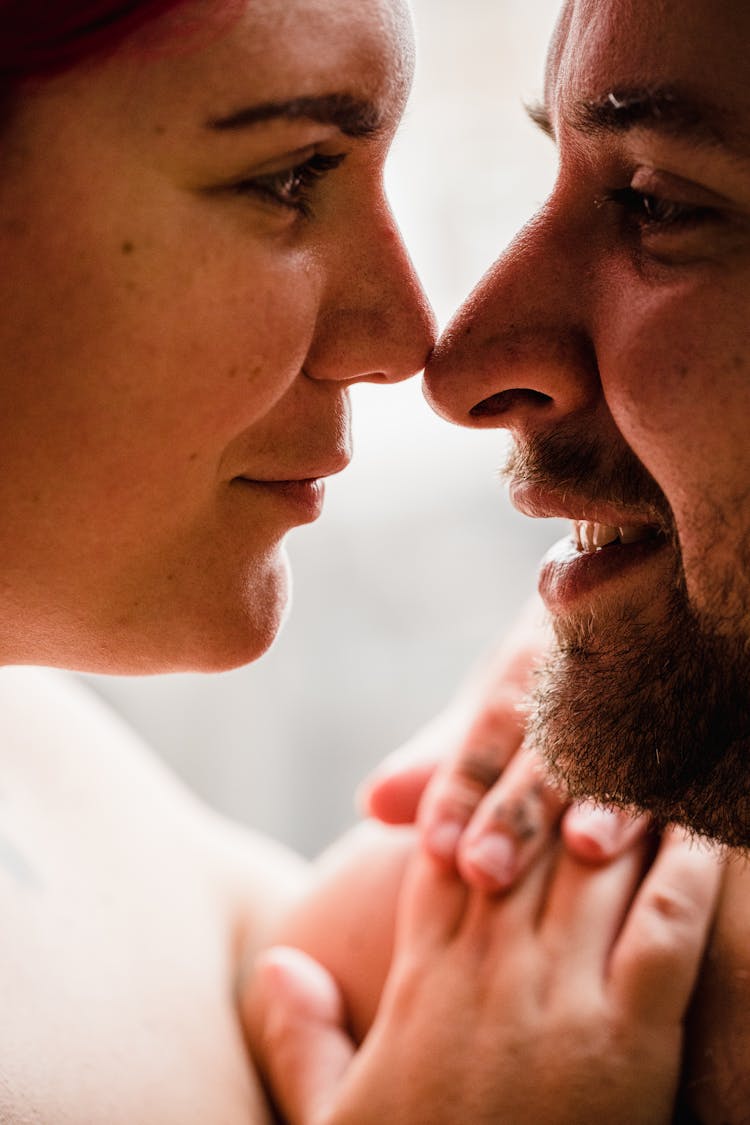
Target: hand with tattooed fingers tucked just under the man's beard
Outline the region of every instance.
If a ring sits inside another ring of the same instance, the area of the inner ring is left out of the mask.
[[[526,699],[549,640],[534,602],[445,712],[360,791],[370,816],[387,824],[416,819],[426,850],[485,890],[510,886],[561,818],[569,850],[589,862],[620,855],[644,831],[630,812],[568,807],[524,746]]]

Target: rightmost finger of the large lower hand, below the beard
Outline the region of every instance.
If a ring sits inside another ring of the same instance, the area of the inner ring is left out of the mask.
[[[613,951],[613,994],[635,1017],[679,1022],[695,986],[723,868],[716,850],[671,829]]]

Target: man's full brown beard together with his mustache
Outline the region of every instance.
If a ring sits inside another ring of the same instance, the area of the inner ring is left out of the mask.
[[[750,646],[737,605],[738,573],[698,614],[690,605],[671,512],[632,454],[608,474],[598,453],[552,435],[514,454],[508,471],[650,512],[670,540],[671,582],[638,605],[593,605],[586,620],[554,620],[527,739],[573,798],[648,811],[732,847],[750,847]],[[621,461],[625,458],[621,454]],[[598,468],[598,471],[597,471]],[[606,492],[600,483],[606,482]],[[741,555],[740,544],[738,552]],[[706,560],[707,561],[707,560]],[[640,594],[644,596],[641,597]]]

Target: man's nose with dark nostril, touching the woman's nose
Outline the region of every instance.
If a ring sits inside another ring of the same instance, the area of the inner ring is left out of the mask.
[[[586,271],[569,241],[537,216],[448,326],[425,378],[443,417],[524,438],[591,408],[599,380]]]

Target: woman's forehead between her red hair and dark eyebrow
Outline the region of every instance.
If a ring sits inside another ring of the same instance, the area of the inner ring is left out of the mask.
[[[201,8],[202,0],[179,6],[108,62],[128,99],[186,122],[336,92],[372,102],[385,119],[400,115],[414,65],[401,0],[229,0],[204,38],[196,34]]]

